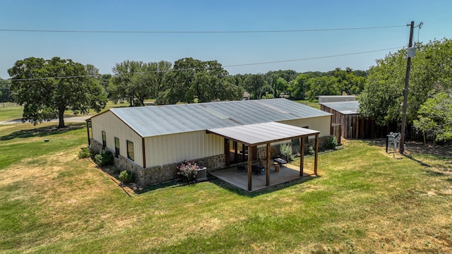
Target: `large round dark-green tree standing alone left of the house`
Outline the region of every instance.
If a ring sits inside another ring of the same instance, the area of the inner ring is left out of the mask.
[[[66,109],[87,114],[89,109],[100,111],[107,103],[103,87],[87,76],[85,66],[71,59],[30,57],[16,61],[8,73],[13,77],[13,96],[24,107],[23,121],[35,125],[58,118],[58,128],[64,128]]]

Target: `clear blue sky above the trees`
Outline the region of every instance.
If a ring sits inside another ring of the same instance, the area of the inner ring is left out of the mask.
[[[452,1],[0,0],[0,30],[262,31],[397,28],[269,33],[84,33],[0,31],[0,77],[20,59],[59,56],[111,73],[124,60],[217,60],[230,74],[292,69],[367,70],[408,44],[411,20],[424,23],[415,40],[452,38]],[[248,63],[280,63],[234,66]],[[228,67],[229,66],[229,67]]]

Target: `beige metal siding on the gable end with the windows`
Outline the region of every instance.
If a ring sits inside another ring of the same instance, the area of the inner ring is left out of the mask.
[[[93,138],[97,142],[102,143],[102,131],[107,135],[107,147],[114,151],[114,137],[119,138],[119,154],[127,157],[127,143],[126,140],[133,142],[134,162],[143,167],[143,150],[141,137],[136,134],[129,126],[124,124],[112,112],[105,112],[97,115],[91,119],[93,130]]]

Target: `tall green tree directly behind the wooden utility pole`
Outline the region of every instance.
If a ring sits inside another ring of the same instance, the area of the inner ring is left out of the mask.
[[[369,69],[368,83],[359,96],[359,111],[381,126],[400,121],[407,49],[388,54]],[[429,95],[451,88],[452,40],[417,44],[412,58],[407,123],[410,125]]]

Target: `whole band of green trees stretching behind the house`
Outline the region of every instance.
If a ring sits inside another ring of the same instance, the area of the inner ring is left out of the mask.
[[[452,140],[452,41],[417,44],[412,59],[408,125],[433,130],[437,141]],[[407,49],[377,59],[367,71],[335,68],[328,72],[292,70],[230,75],[218,61],[193,58],[148,62],[122,61],[113,75],[95,66],[54,57],[16,61],[11,80],[0,79],[0,99],[23,104],[23,120],[39,123],[59,118],[65,110],[100,111],[107,99],[129,100],[131,106],[287,97],[314,101],[319,95],[357,95],[359,112],[381,126],[400,122]],[[64,78],[61,78],[64,77]]]

